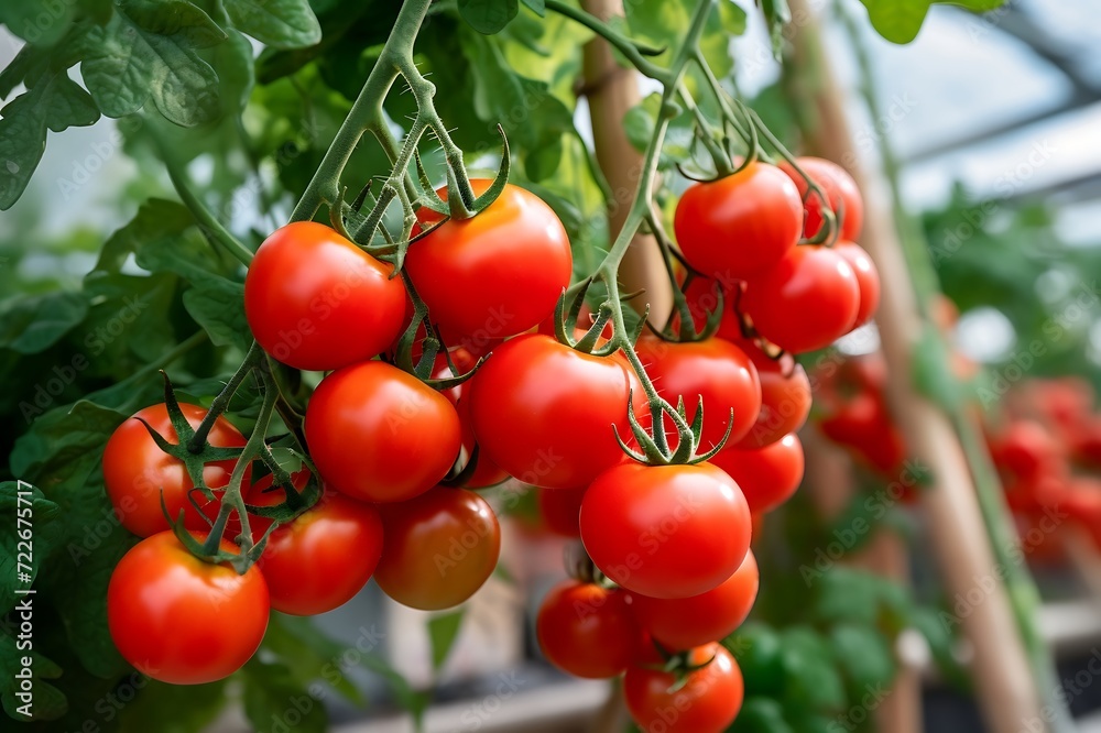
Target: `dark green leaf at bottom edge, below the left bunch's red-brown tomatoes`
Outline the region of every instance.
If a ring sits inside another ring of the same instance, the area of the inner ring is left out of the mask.
[[[279,723],[297,721],[295,731],[325,733],[328,713],[325,705],[307,691],[287,665],[252,657],[241,669],[241,697],[244,714],[253,730],[269,731]]]

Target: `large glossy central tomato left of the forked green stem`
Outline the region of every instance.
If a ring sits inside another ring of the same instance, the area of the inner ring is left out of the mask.
[[[525,483],[587,485],[625,460],[629,393],[645,424],[650,408],[637,378],[619,358],[575,351],[541,333],[506,341],[470,381],[475,435],[491,461]]]

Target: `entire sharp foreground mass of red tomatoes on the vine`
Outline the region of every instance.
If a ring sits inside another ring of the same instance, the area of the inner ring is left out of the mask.
[[[301,426],[290,418],[277,438],[309,460],[287,477],[270,453],[248,452],[235,474],[237,459],[224,458],[246,440],[219,415],[207,441],[221,452],[204,459],[196,488],[181,447],[165,452],[183,442],[165,405],[119,427],[103,457],[107,490],[145,538],[111,581],[123,656],[157,679],[218,679],[255,652],[269,609],[323,613],[372,577],[412,608],[461,603],[501,549],[476,490],[512,478],[536,488],[548,522],[580,538],[590,564],[539,611],[547,657],[584,677],[625,674],[646,730],[726,727],[743,683],[718,643],[756,597],[753,517],[803,478],[795,433],[810,385],[791,352],[851,330],[879,297],[874,269],[849,241],[861,207],[851,179],[800,164],[820,188],[753,162],[685,193],[676,233],[698,272],[680,316],[695,329],[642,336],[633,351],[613,329],[584,339],[591,349],[554,336],[574,321],[557,322],[556,310],[569,241],[522,188],[505,185],[467,219],[422,209],[402,272],[319,223],[274,232],[249,269],[246,314],[270,357],[324,372]],[[476,195],[490,189],[472,184]],[[717,319],[710,336],[704,325]],[[193,428],[207,416],[182,411]],[[231,474],[243,474],[246,516],[222,507],[240,506]],[[166,515],[183,521],[170,527]],[[188,549],[188,533],[203,539],[218,516],[230,518],[222,545],[253,564]],[[151,584],[172,591],[145,592]]]

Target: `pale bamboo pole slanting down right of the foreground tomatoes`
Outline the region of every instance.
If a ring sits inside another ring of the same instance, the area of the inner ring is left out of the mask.
[[[861,165],[853,147],[842,96],[819,44],[814,14],[805,0],[792,0],[791,7],[793,17],[803,20],[795,46],[818,75],[813,100],[817,147],[824,156],[844,163],[864,195],[861,242],[879,267],[885,295],[877,322],[890,366],[887,394],[911,455],[931,473],[933,485],[923,492],[923,506],[947,594],[981,595],[967,604],[959,623],[971,642],[971,668],[983,716],[992,733],[1018,733],[1033,721],[1043,725],[1046,719],[963,449],[949,416],[913,387],[911,363],[924,325],[886,184]]]

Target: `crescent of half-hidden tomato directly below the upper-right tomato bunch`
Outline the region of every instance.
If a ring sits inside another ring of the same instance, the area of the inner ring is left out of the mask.
[[[807,372],[791,355],[774,360],[760,349],[746,353],[761,380],[761,413],[745,437],[731,446],[739,450],[764,448],[795,433],[807,422],[811,403]]]

